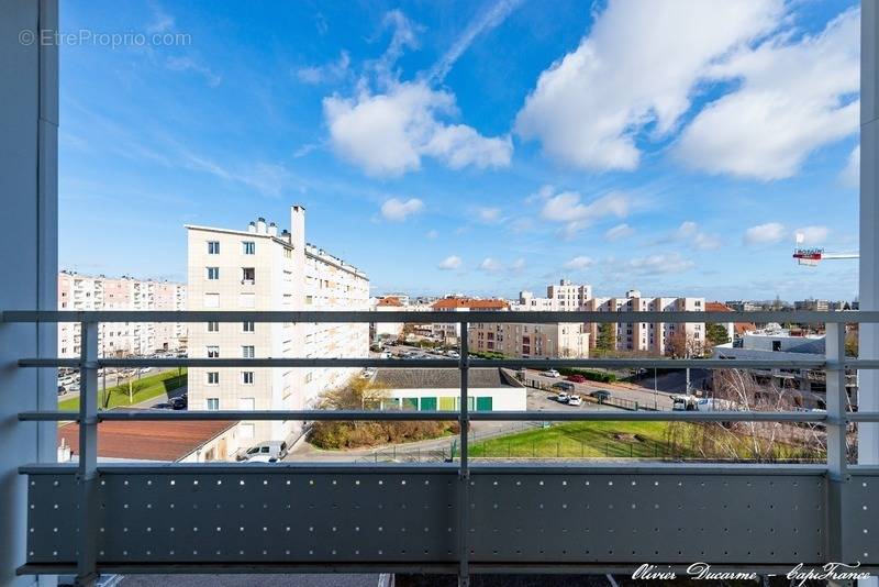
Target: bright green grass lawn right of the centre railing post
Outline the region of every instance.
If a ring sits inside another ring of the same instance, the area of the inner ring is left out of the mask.
[[[668,422],[570,422],[475,442],[478,457],[694,456],[667,441]]]

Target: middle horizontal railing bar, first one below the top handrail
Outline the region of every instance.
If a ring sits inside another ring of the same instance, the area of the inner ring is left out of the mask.
[[[381,367],[381,368],[459,368],[454,358],[98,358],[98,367]],[[858,368],[879,368],[879,361]],[[22,358],[20,367],[78,367],[77,358]],[[598,367],[598,368],[823,368],[823,358],[815,359],[714,359],[714,358],[472,358],[470,367]]]

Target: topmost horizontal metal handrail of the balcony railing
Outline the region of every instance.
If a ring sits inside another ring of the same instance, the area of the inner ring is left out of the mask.
[[[371,310],[310,310],[310,311],[243,311],[243,310],[7,310],[0,312],[0,322],[434,322],[454,324],[461,315],[444,311],[393,311]],[[597,312],[597,311],[470,311],[469,323],[554,323],[554,322],[797,322],[797,323],[861,323],[879,322],[879,311],[844,310],[817,312],[811,310],[753,312],[694,312],[694,311],[645,311],[645,312]]]

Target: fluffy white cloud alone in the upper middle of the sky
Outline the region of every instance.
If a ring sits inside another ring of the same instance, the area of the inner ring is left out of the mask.
[[[423,82],[393,82],[385,93],[363,90],[356,98],[331,96],[323,110],[336,153],[370,175],[418,169],[424,156],[453,169],[505,167],[512,156],[509,136],[487,137],[442,122],[455,113],[455,97]]]

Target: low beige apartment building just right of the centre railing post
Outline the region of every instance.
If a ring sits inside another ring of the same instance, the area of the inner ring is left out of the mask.
[[[589,332],[581,322],[552,324],[470,324],[471,351],[496,352],[518,358],[588,358]]]

